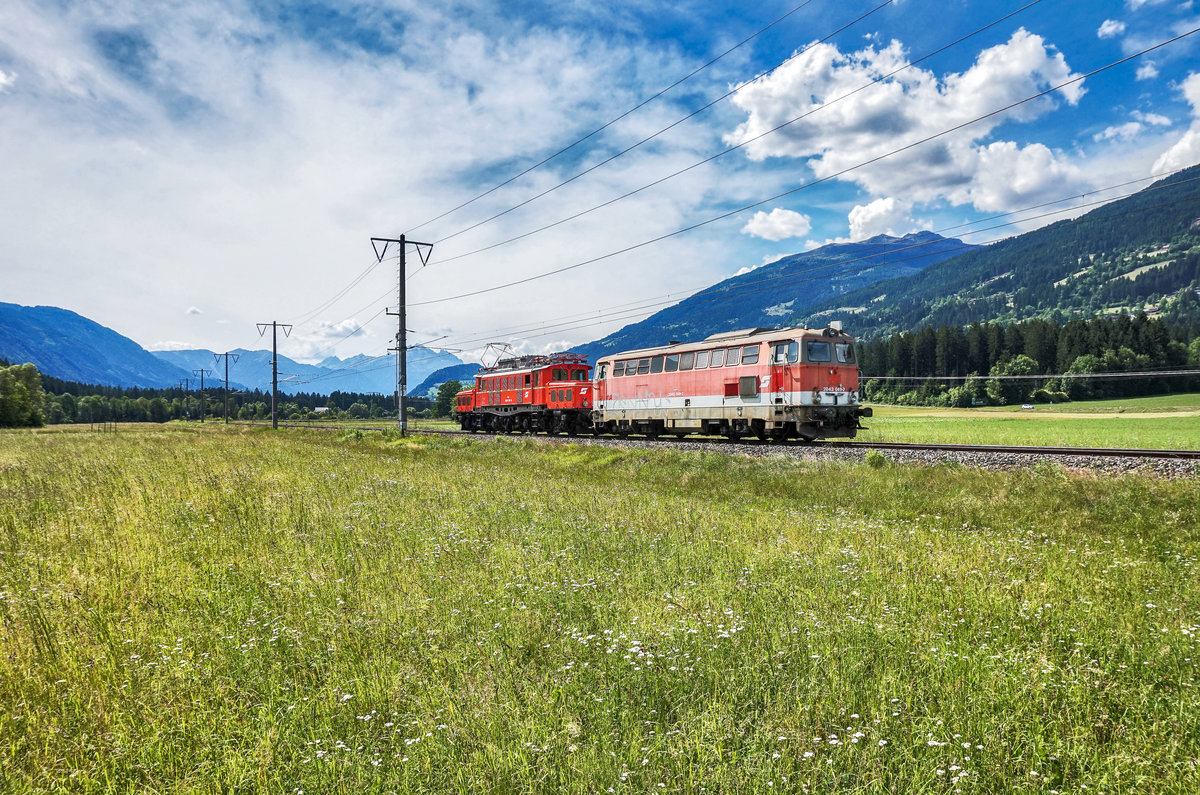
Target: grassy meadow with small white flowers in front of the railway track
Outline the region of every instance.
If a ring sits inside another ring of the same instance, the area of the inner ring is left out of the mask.
[[[0,791],[1200,791],[1200,482],[0,434]]]

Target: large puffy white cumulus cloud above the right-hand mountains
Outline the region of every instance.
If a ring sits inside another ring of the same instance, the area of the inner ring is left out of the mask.
[[[962,73],[938,79],[908,68],[835,102],[905,62],[895,41],[883,49],[850,54],[830,44],[814,46],[738,91],[733,101],[748,119],[726,141],[751,141],[803,115],[749,143],[748,155],[805,159],[817,177],[853,181],[870,193],[902,195],[911,202],[970,202],[980,210],[1010,209],[1014,204],[1007,202],[1027,204],[1086,184],[1078,168],[1042,144],[983,143],[1006,120],[1032,121],[1052,110],[1058,101],[1051,96],[898,151],[1078,77],[1040,36],[1021,29],[1008,42],[979,53]],[[1072,83],[1057,95],[1075,104],[1084,86]],[[863,166],[875,159],[882,160]],[[1038,171],[1024,171],[1034,166]],[[1016,168],[1021,171],[1012,171]],[[1014,180],[1014,173],[1022,177]]]

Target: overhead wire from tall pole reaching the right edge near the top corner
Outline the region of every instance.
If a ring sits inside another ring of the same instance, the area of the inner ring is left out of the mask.
[[[631,251],[636,251],[638,249],[643,249],[643,247],[653,245],[655,243],[661,243],[662,240],[667,240],[670,238],[674,238],[674,237],[678,237],[680,234],[685,234],[688,232],[694,232],[694,231],[700,229],[702,227],[706,227],[706,226],[708,226],[710,223],[715,223],[716,221],[722,221],[725,219],[732,217],[732,216],[738,215],[740,213],[745,213],[746,210],[751,210],[751,209],[755,209],[757,207],[762,207],[763,204],[768,204],[770,202],[778,201],[780,198],[784,198],[785,196],[792,196],[794,193],[798,193],[799,191],[814,187],[815,185],[820,185],[822,183],[827,183],[827,181],[838,179],[839,177],[844,177],[844,175],[846,175],[846,174],[848,174],[848,173],[851,173],[853,171],[857,171],[859,168],[864,168],[864,167],[870,166],[872,163],[877,163],[877,162],[880,162],[882,160],[886,160],[888,157],[893,157],[893,156],[900,154],[900,153],[904,153],[904,151],[907,151],[907,150],[913,149],[916,147],[926,144],[926,143],[929,143],[931,141],[936,141],[936,139],[938,139],[938,138],[941,138],[943,136],[947,136],[947,135],[949,135],[952,132],[956,132],[956,131],[962,130],[965,127],[968,127],[971,125],[978,124],[979,121],[983,121],[984,119],[989,119],[991,116],[995,116],[995,115],[998,115],[998,114],[1002,114],[1002,113],[1007,113],[1008,110],[1012,110],[1013,108],[1016,108],[1016,107],[1020,107],[1020,106],[1025,104],[1026,102],[1032,102],[1033,100],[1038,100],[1038,98],[1040,98],[1043,96],[1046,96],[1046,95],[1052,94],[1055,91],[1062,90],[1063,88],[1066,88],[1068,85],[1073,85],[1073,84],[1079,83],[1080,80],[1084,80],[1084,79],[1086,79],[1088,77],[1092,77],[1092,76],[1098,74],[1100,72],[1104,72],[1106,70],[1114,68],[1114,67],[1120,66],[1122,64],[1126,64],[1126,62],[1128,62],[1130,60],[1134,60],[1136,58],[1146,55],[1147,53],[1154,52],[1157,49],[1160,49],[1163,47],[1172,44],[1172,43],[1175,43],[1177,41],[1181,41],[1181,40],[1186,38],[1188,36],[1194,35],[1198,31],[1200,31],[1200,28],[1193,28],[1192,30],[1188,30],[1187,32],[1180,34],[1177,36],[1172,36],[1169,40],[1165,40],[1165,41],[1158,42],[1157,44],[1152,44],[1150,47],[1146,47],[1146,48],[1139,50],[1138,53],[1134,53],[1132,55],[1127,55],[1127,56],[1121,58],[1118,60],[1115,60],[1115,61],[1112,61],[1110,64],[1106,64],[1104,66],[1097,67],[1097,68],[1094,68],[1094,70],[1092,70],[1090,72],[1086,72],[1084,74],[1078,74],[1076,77],[1073,77],[1073,78],[1070,78],[1068,80],[1063,80],[1062,83],[1060,83],[1057,85],[1054,85],[1054,86],[1051,86],[1049,89],[1045,89],[1043,91],[1038,91],[1037,94],[1027,96],[1024,100],[1018,100],[1016,102],[1012,102],[1012,103],[1006,104],[1003,107],[996,108],[995,110],[991,110],[989,113],[978,115],[974,119],[971,119],[968,121],[964,121],[961,124],[954,125],[952,127],[942,130],[941,132],[934,133],[931,136],[926,136],[926,137],[920,138],[918,141],[913,141],[913,142],[911,142],[908,144],[905,144],[902,147],[893,149],[893,150],[890,150],[888,153],[884,153],[882,155],[877,155],[875,157],[871,157],[871,159],[868,159],[868,160],[865,160],[863,162],[859,162],[859,163],[857,163],[854,166],[850,166],[850,167],[844,168],[844,169],[841,169],[839,172],[828,174],[827,177],[822,177],[822,178],[818,178],[818,179],[812,180],[810,183],[805,183],[804,185],[800,185],[798,187],[793,187],[793,189],[784,191],[781,193],[776,193],[774,196],[769,196],[767,198],[760,199],[760,201],[754,202],[751,204],[746,204],[744,207],[739,207],[737,209],[728,210],[726,213],[721,213],[720,215],[715,215],[715,216],[706,219],[703,221],[698,221],[696,223],[685,226],[685,227],[676,229],[673,232],[667,232],[667,233],[664,233],[664,234],[660,234],[660,235],[655,235],[655,237],[649,238],[647,240],[642,240],[641,243],[635,243],[635,244],[628,245],[628,246],[625,246],[623,249],[618,249],[616,251],[611,251],[611,252],[605,253],[605,255],[592,257],[589,259],[584,259],[582,262],[577,262],[577,263],[574,263],[574,264],[570,264],[570,265],[563,265],[560,268],[554,268],[552,270],[542,271],[540,274],[527,276],[524,279],[518,279],[518,280],[514,280],[514,281],[505,282],[505,283],[502,283],[502,285],[494,285],[492,287],[486,287],[486,288],[475,289],[475,291],[470,291],[470,292],[466,292],[466,293],[460,293],[457,295],[446,295],[444,298],[430,299],[430,300],[425,300],[425,301],[416,301],[416,303],[413,303],[410,305],[412,306],[427,306],[427,305],[431,305],[431,304],[442,304],[442,303],[445,303],[445,301],[458,300],[461,298],[470,298],[470,297],[474,297],[474,295],[484,295],[484,294],[487,294],[487,293],[493,293],[493,292],[497,292],[497,291],[500,291],[500,289],[505,289],[505,288],[509,288],[509,287],[516,287],[518,285],[526,285],[526,283],[529,283],[532,281],[538,281],[540,279],[546,279],[548,276],[554,276],[554,275],[558,275],[558,274],[562,274],[562,273],[566,273],[569,270],[575,270],[575,269],[578,269],[578,268],[583,268],[586,265],[595,264],[598,262],[604,262],[606,259],[611,259],[611,258],[620,256],[623,253],[629,253]]]

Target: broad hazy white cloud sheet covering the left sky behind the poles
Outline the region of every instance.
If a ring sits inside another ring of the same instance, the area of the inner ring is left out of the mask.
[[[20,73],[20,90],[2,95],[0,114],[0,283],[18,285],[5,300],[66,306],[136,340],[169,340],[178,307],[203,306],[187,316],[187,333],[204,347],[262,347],[254,324],[298,321],[324,303],[373,262],[370,237],[408,229],[440,240],[558,184],[595,153],[580,148],[566,162],[413,229],[511,175],[535,149],[575,141],[695,66],[671,44],[530,25],[503,4],[463,13],[439,4],[379,4],[371,13],[395,5],[404,7],[403,36],[385,42],[395,53],[380,55],[322,46],[240,2],[185,4],[166,13],[161,2],[50,10],[8,0],[0,52],[5,74]],[[371,22],[362,28],[394,30]],[[138,31],[152,47],[145,80],[127,79],[97,54],[94,32],[113,28]],[[690,89],[719,95],[726,77],[706,72]],[[673,101],[647,106],[596,143],[625,145],[660,130],[682,115]],[[503,223],[439,243],[427,268],[412,268],[410,336],[518,339],[517,304],[553,306],[564,294],[588,294],[595,298],[587,309],[610,306],[611,295],[588,287],[599,276],[637,285],[643,297],[677,292],[680,262],[697,286],[724,276],[726,253],[713,240],[730,231],[713,227],[520,291],[418,306],[662,237],[726,196],[740,199],[761,187],[736,169],[695,169],[529,241],[440,264],[642,187],[648,174],[694,165],[715,143],[704,127],[665,136]],[[72,234],[64,244],[49,240],[48,228]],[[620,229],[617,241],[613,229]],[[204,277],[167,276],[168,252],[179,273]],[[90,267],[76,276],[68,263],[79,261]],[[228,289],[234,282],[239,289]],[[337,355],[383,353],[395,329],[383,309],[395,309],[395,264],[384,263],[317,315],[330,325],[358,316],[367,327]],[[607,323],[565,335],[576,334],[577,345],[620,321]],[[302,355],[331,343],[328,328],[314,325],[281,335],[281,352],[292,355],[294,347]],[[563,335],[530,345],[558,345]]]

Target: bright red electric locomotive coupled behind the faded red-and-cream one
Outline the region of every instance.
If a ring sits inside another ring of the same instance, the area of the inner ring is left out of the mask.
[[[590,431],[590,371],[576,353],[500,359],[458,393],[458,424],[464,431]]]

